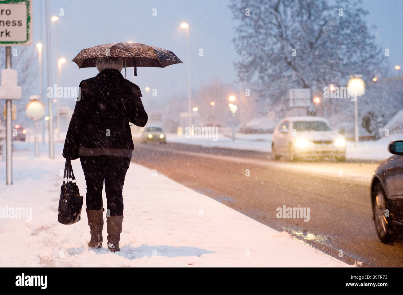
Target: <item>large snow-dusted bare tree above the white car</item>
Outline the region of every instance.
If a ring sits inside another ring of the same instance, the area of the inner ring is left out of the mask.
[[[241,23],[233,39],[241,81],[265,105],[281,103],[289,88],[320,91],[346,86],[351,74],[382,71],[381,50],[364,21],[361,1],[232,0]]]

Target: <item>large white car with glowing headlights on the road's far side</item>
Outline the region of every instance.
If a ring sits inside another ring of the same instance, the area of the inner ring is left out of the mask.
[[[280,121],[272,136],[272,154],[275,160],[286,157],[327,158],[345,161],[346,143],[343,135],[320,117],[288,117]]]

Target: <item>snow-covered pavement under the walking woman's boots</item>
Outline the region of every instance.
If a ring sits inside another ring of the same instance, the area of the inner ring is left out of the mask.
[[[32,144],[15,146],[13,184],[0,184],[0,207],[31,207],[32,220],[1,219],[0,266],[351,266],[134,163],[123,189],[121,251],[109,252],[106,242],[89,249],[85,208],[74,225],[57,221],[62,144],[55,160],[46,151],[33,158]],[[85,195],[79,160],[72,163]]]

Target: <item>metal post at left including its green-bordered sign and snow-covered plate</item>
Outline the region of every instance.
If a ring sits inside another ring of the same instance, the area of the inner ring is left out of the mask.
[[[11,46],[29,46],[32,43],[31,0],[0,0],[0,46],[6,46],[6,69],[2,70],[0,99],[6,100],[6,183],[12,184],[12,129],[11,100],[21,99],[17,86],[17,71],[11,70]]]

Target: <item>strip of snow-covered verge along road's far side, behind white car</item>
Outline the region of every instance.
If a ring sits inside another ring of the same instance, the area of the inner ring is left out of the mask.
[[[170,142],[179,142],[187,144],[197,144],[206,147],[228,147],[238,150],[254,150],[261,152],[272,151],[272,134],[242,134],[236,133],[236,140],[219,134],[217,141],[212,138],[187,138],[185,135],[168,133],[166,140]],[[403,134],[391,134],[389,137],[382,137],[377,141],[359,141],[358,146],[354,142],[347,141],[347,159],[358,160],[383,160],[389,158],[392,154],[388,151],[388,145],[391,141],[402,140]]]

